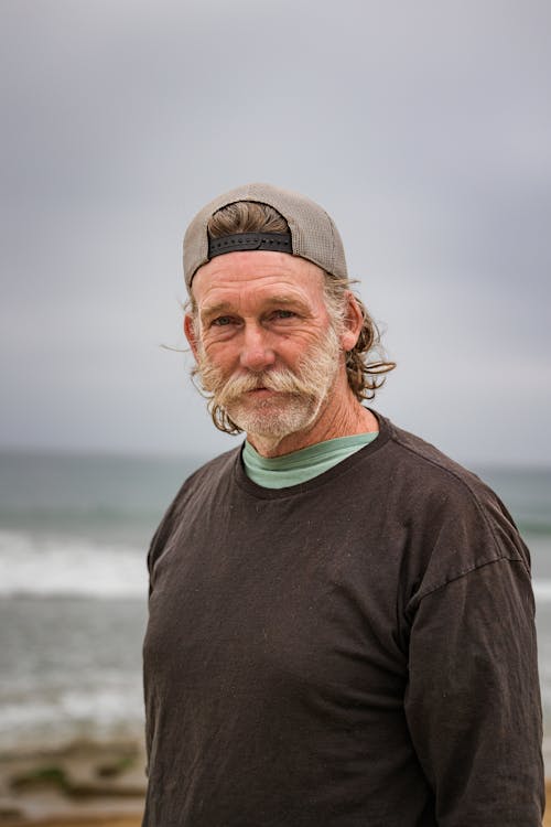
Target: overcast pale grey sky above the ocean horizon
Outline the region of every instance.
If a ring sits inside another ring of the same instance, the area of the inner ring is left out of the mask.
[[[333,216],[374,406],[551,464],[548,0],[1,0],[0,448],[214,454],[181,246],[250,181]]]

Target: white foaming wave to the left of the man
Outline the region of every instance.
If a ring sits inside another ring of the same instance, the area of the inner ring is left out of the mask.
[[[0,531],[0,595],[141,598],[145,552],[80,537]]]

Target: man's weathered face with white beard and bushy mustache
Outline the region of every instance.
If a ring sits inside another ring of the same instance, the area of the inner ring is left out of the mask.
[[[318,267],[283,253],[230,253],[197,271],[186,335],[203,386],[248,434],[306,429],[344,369],[323,284]]]

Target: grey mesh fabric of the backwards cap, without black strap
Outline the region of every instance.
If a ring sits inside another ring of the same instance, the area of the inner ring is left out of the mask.
[[[343,241],[325,210],[304,195],[289,190],[281,190],[271,184],[246,184],[212,201],[197,213],[187,227],[184,237],[184,276],[187,290],[198,268],[213,257],[208,251],[207,234],[210,217],[222,207],[239,201],[268,204],[277,210],[289,224],[292,246],[289,251],[293,256],[306,258],[337,278],[347,278]],[[231,251],[231,248],[227,251]]]

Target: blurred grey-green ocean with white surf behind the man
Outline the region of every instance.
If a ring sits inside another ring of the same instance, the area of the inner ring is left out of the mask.
[[[0,753],[142,739],[145,555],[205,459],[0,452]],[[551,735],[551,469],[474,469],[532,555]]]

